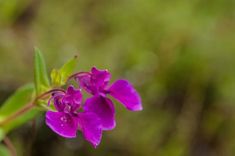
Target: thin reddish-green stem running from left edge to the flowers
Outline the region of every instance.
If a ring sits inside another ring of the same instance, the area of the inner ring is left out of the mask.
[[[16,117],[18,117],[18,116],[28,112],[29,110],[31,110],[33,107],[36,106],[37,100],[39,100],[41,98],[44,98],[45,96],[48,96],[49,94],[51,94],[53,92],[65,92],[65,91],[63,89],[52,89],[52,90],[49,90],[49,91],[47,91],[47,92],[37,96],[32,102],[30,102],[29,104],[25,105],[20,110],[18,110],[15,113],[9,115],[6,119],[1,121],[0,122],[0,127],[3,126],[4,124],[10,122],[11,120],[14,120]]]

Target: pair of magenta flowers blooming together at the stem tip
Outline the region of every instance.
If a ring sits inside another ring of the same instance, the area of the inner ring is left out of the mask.
[[[94,147],[99,145],[102,131],[115,125],[115,108],[107,95],[112,96],[128,110],[142,110],[141,98],[127,80],[117,80],[109,85],[111,74],[93,67],[90,72],[74,74],[78,89],[70,85],[66,91],[54,91],[49,99],[56,111],[47,111],[46,124],[66,138],[76,137],[80,130]],[[82,90],[91,95],[82,99]]]

